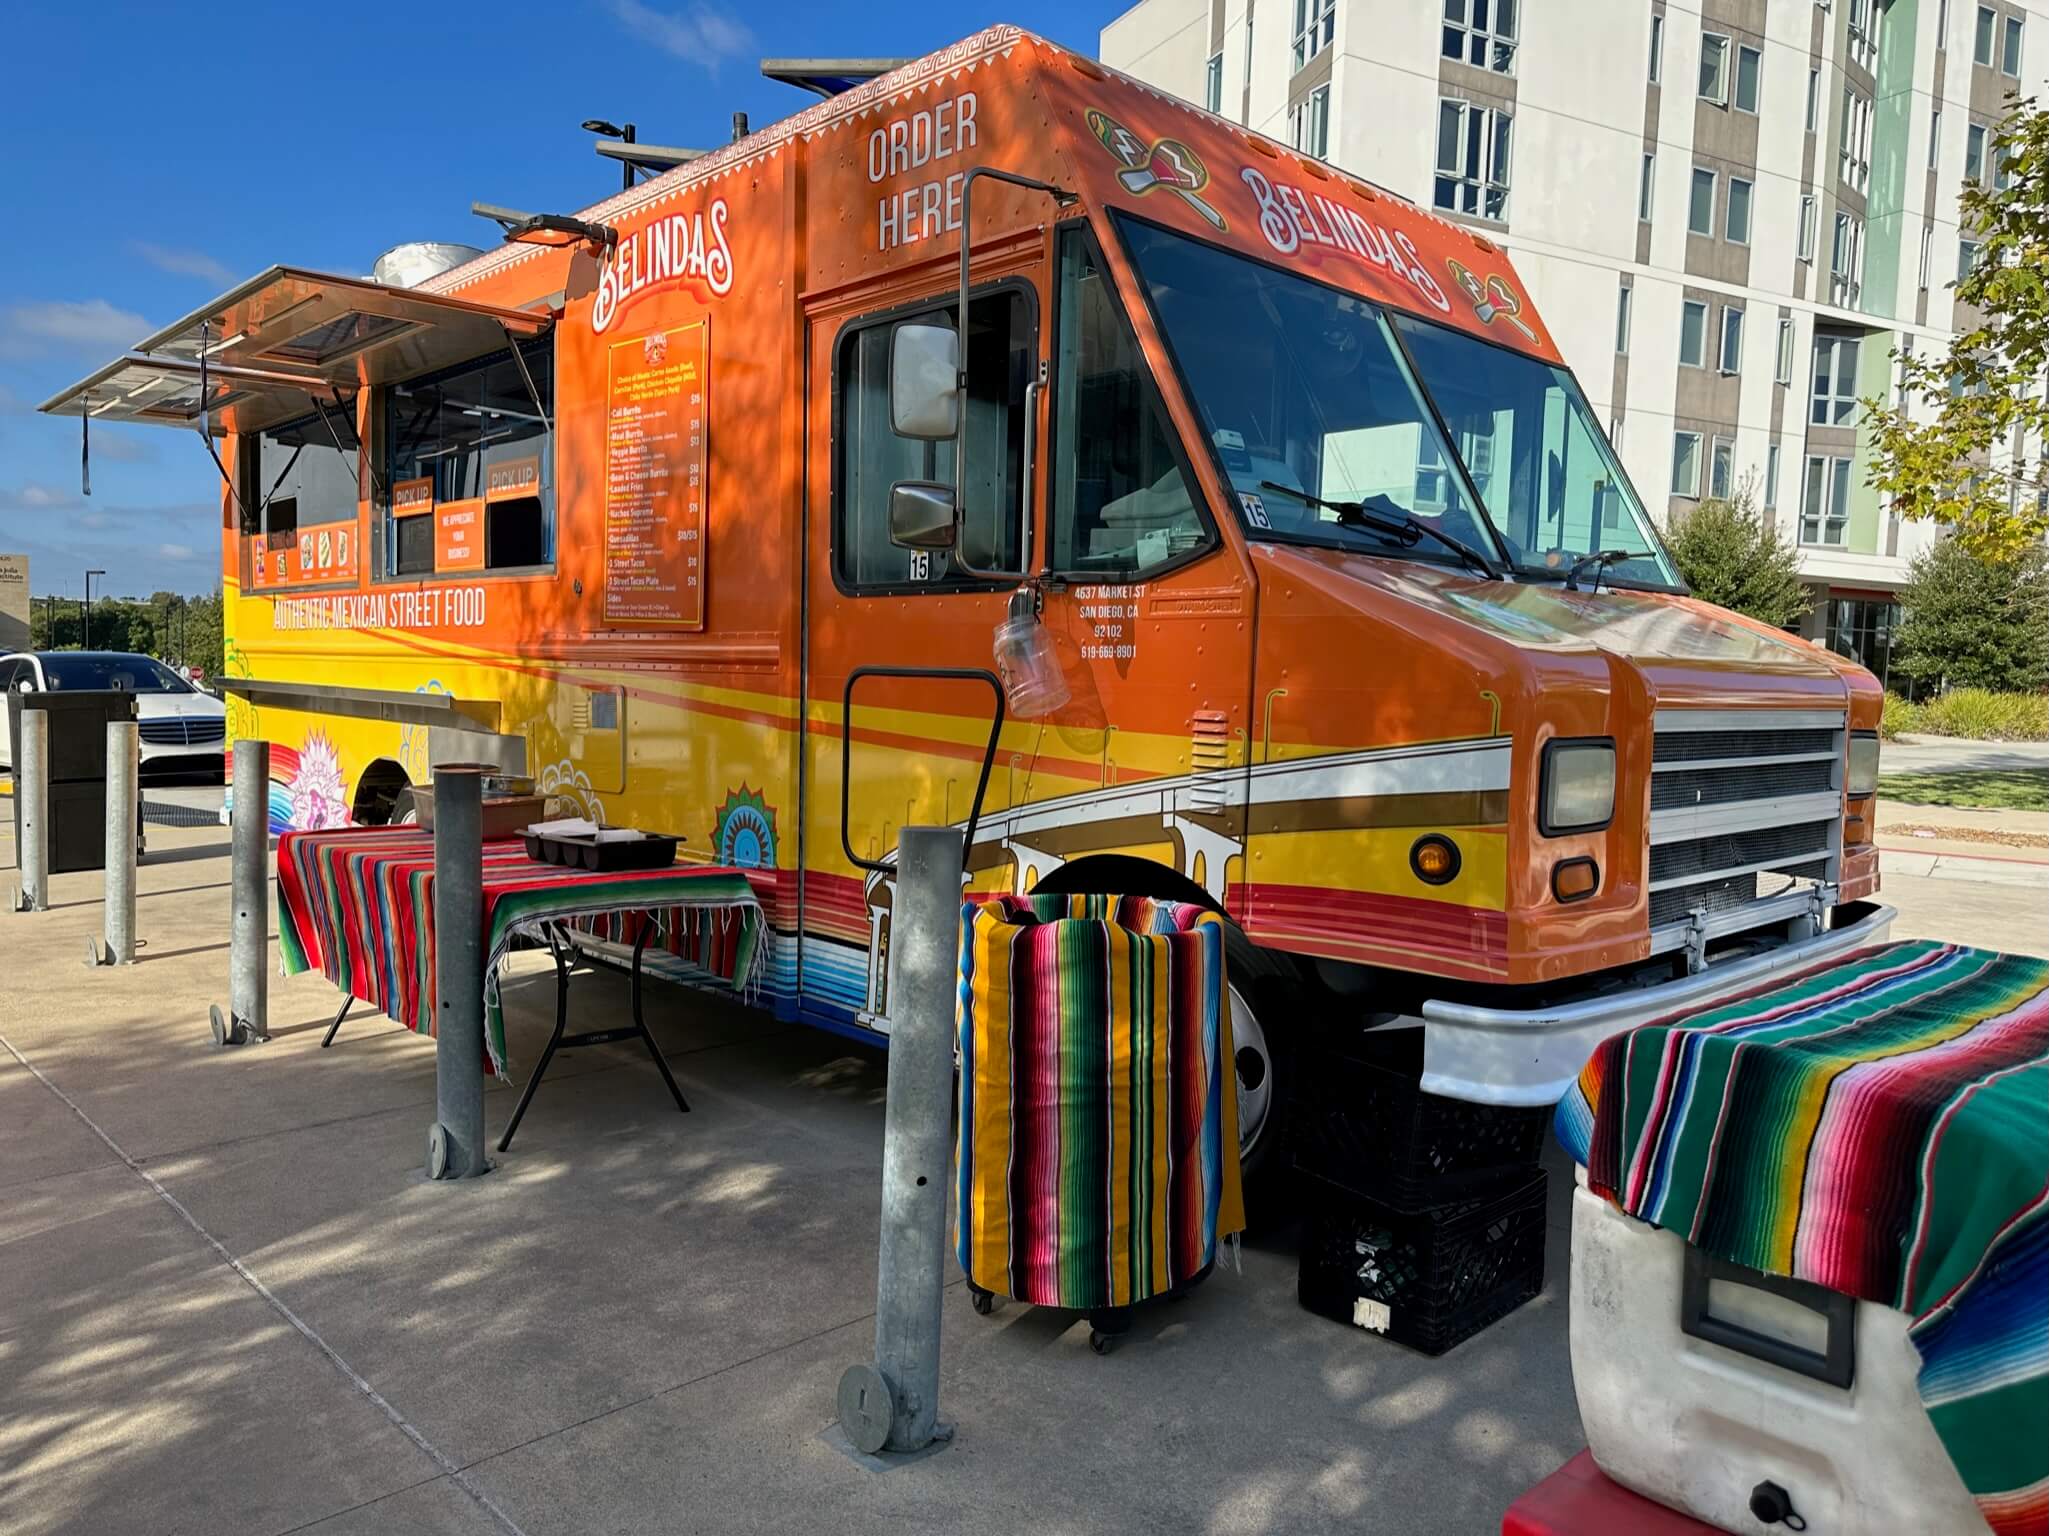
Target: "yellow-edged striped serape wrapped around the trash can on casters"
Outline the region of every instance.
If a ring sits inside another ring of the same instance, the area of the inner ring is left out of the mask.
[[[1113,1313],[1244,1229],[1225,997],[1205,907],[963,905],[957,1253],[977,1292]]]

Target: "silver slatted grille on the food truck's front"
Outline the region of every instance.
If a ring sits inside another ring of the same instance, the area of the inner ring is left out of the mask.
[[[1658,711],[1649,821],[1656,948],[1684,942],[1695,913],[1711,934],[1742,932],[1748,909],[1797,883],[1836,879],[1844,729],[1840,711]]]

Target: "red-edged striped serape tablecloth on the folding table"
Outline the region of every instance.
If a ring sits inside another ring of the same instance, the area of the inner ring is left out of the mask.
[[[498,961],[551,924],[678,956],[707,981],[746,991],[766,942],[748,877],[709,864],[572,870],[527,856],[518,838],[484,844],[484,1040],[506,1075]],[[434,838],[416,827],[287,831],[277,840],[277,932],[285,975],[320,969],[418,1034],[434,1032]]]

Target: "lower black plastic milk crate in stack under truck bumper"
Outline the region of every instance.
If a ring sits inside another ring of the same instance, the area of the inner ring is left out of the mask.
[[[1543,1290],[1543,1169],[1465,1200],[1399,1210],[1305,1182],[1303,1307],[1445,1354]]]

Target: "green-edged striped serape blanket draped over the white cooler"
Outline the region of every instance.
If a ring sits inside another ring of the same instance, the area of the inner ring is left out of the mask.
[[[1631,1217],[1906,1313],[1985,1524],[2049,1532],[2049,961],[1883,944],[1643,1024],[1557,1137]]]

